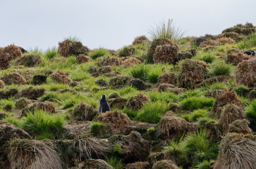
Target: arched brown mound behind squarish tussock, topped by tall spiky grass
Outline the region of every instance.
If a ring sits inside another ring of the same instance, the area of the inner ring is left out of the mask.
[[[174,43],[172,40],[166,39],[166,38],[155,39],[151,42],[151,46],[147,51],[147,58],[145,61],[147,64],[154,63],[153,58],[154,58],[155,50],[156,50],[156,47],[159,45],[173,45],[179,51],[179,46],[176,43]]]

